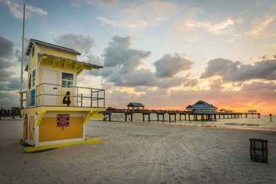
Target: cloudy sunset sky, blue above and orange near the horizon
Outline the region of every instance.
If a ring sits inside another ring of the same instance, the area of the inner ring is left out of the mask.
[[[106,107],[184,110],[203,100],[276,114],[275,0],[0,0],[1,108],[19,106],[24,3],[24,52],[38,39],[103,65],[77,85],[105,89]]]

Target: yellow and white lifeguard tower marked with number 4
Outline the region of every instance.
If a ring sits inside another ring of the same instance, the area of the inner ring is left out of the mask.
[[[85,124],[103,119],[105,91],[77,87],[83,70],[103,68],[77,61],[79,52],[30,39],[28,89],[23,92],[23,142],[34,147],[84,141]]]

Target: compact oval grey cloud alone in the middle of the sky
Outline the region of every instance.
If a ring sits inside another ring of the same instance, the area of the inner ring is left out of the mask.
[[[158,61],[155,61],[155,75],[158,77],[172,77],[183,70],[189,70],[194,62],[185,59],[180,54],[166,54]]]

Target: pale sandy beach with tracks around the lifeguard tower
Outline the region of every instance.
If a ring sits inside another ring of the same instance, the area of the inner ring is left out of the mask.
[[[276,132],[88,121],[100,143],[26,153],[21,121],[0,121],[0,183],[276,183]],[[250,161],[268,140],[268,163]]]

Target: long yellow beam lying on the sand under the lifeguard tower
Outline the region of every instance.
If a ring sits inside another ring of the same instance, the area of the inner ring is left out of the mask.
[[[26,152],[37,152],[41,150],[50,150],[54,149],[57,147],[62,147],[62,146],[68,146],[68,145],[78,145],[78,144],[83,144],[83,143],[99,143],[101,142],[101,139],[90,139],[86,141],[77,141],[77,142],[72,142],[72,143],[61,143],[61,144],[56,144],[56,145],[41,145],[37,147],[25,147]]]

